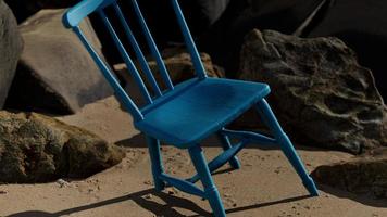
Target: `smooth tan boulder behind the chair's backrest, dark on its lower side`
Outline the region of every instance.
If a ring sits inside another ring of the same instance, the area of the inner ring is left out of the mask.
[[[71,114],[112,94],[79,39],[62,25],[63,13],[42,10],[20,26],[25,48],[7,101],[9,108]],[[80,27],[100,51],[89,22]]]

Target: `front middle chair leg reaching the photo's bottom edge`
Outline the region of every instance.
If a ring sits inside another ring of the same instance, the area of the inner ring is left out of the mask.
[[[189,148],[189,155],[192,159],[194,166],[200,176],[200,180],[204,187],[207,199],[215,217],[225,217],[226,213],[223,207],[221,195],[212,180],[203,151],[199,145]]]

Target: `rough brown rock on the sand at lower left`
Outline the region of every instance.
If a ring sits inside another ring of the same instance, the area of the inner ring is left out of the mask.
[[[98,136],[54,118],[0,112],[0,182],[86,178],[118,164],[124,155]]]

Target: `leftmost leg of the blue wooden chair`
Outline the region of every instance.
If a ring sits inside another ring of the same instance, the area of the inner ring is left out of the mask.
[[[152,164],[154,188],[157,191],[162,191],[165,188],[165,183],[159,178],[161,173],[164,171],[161,162],[160,141],[147,136],[147,142],[148,142],[150,161]]]

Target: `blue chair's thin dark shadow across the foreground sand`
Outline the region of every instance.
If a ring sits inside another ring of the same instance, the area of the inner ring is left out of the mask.
[[[146,199],[145,196],[148,194],[152,194],[153,196],[157,196],[161,199],[162,201],[165,202],[165,204],[160,204],[158,202],[151,201]],[[265,203],[260,203],[260,204],[254,204],[254,205],[249,205],[249,206],[244,206],[244,207],[235,207],[227,209],[226,213],[237,213],[237,212],[242,212],[247,209],[254,209],[254,208],[260,208],[260,207],[265,207],[265,206],[271,206],[275,204],[282,204],[282,203],[289,203],[294,201],[299,201],[303,199],[308,199],[310,195],[302,195],[302,196],[295,196],[290,199],[284,199],[279,201],[274,201],[274,202],[265,202]],[[22,213],[16,213],[9,215],[8,217],[60,217],[60,216],[65,216],[65,215],[71,215],[75,214],[78,212],[84,212],[88,209],[93,209],[102,206],[108,206],[125,201],[134,201],[136,204],[138,204],[140,207],[153,213],[155,216],[174,216],[174,217],[185,217],[186,215],[183,215],[178,213],[174,207],[179,207],[184,208],[187,210],[190,210],[191,213],[195,213],[195,215],[190,215],[190,217],[199,217],[199,216],[204,216],[204,217],[210,217],[212,216],[211,213],[208,210],[202,209],[200,206],[198,206],[196,203],[191,202],[190,200],[170,195],[164,192],[157,192],[154,189],[148,189],[148,190],[142,190],[139,192],[135,192],[128,195],[115,197],[115,199],[110,199],[84,206],[78,206],[78,207],[73,207],[64,210],[60,210],[57,213],[47,213],[47,212],[40,212],[40,210],[28,210],[28,212],[22,212]],[[129,210],[128,210],[129,212]]]

